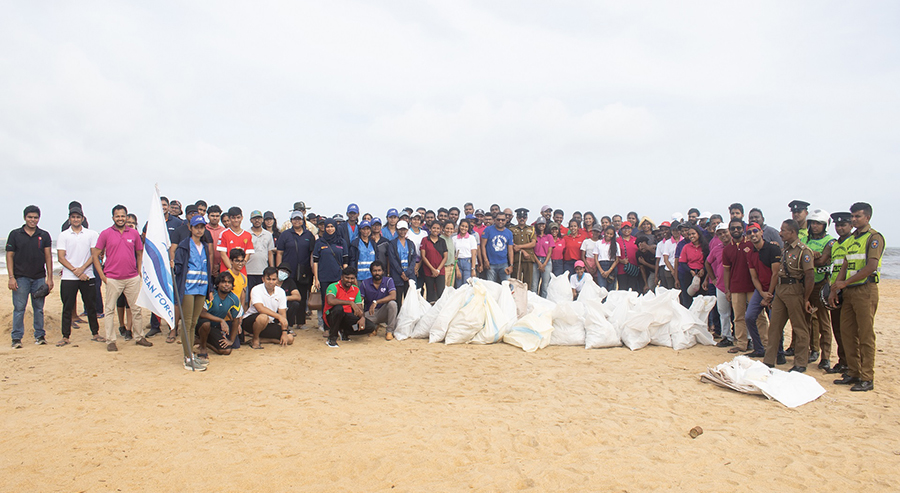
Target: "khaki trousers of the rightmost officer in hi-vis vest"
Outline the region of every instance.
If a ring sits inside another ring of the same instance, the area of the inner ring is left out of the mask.
[[[841,341],[851,377],[875,378],[875,311],[878,283],[844,288],[841,304]]]

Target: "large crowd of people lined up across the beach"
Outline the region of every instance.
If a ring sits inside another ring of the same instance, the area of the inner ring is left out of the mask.
[[[339,337],[377,334],[380,324],[391,340],[410,288],[434,303],[446,286],[470,278],[515,278],[546,297],[552,276],[568,273],[575,297],[586,282],[639,293],[678,289],[688,307],[696,296],[715,296],[709,325],[717,346],[772,367],[793,356],[791,371],[818,361],[822,370],[841,374],[836,384],[871,390],[884,238],[870,227],[867,203],[833,214],[809,206],[790,202],[791,218],[776,229],[758,208],[745,217],[739,203],[728,207],[727,217],[692,208],[657,224],[636,212],[598,220],[576,211],[564,221],[564,211],[548,205],[532,221],[525,208],[493,204],[485,211],[472,203],[437,212],[392,208],[384,219],[349,204],[345,218],[315,214],[297,202],[282,226],[271,211],[254,210],[244,230],[240,207],[224,210],[199,200],[182,210],[180,202],[161,199],[176,319],[196,333],[201,362],[208,351],[229,354],[242,344],[292,344],[313,310],[330,347],[338,347]],[[40,209],[26,207],[24,218],[6,245],[13,348],[22,347],[29,296],[35,343],[46,344],[43,299],[54,287],[51,238],[38,227]],[[151,347],[148,339],[161,333],[155,315],[145,331],[137,305],[144,246],[138,219],[116,205],[112,222],[95,232],[81,204],[69,205],[57,244],[63,302],[57,346],[68,345],[73,325],[84,323],[76,310],[79,293],[91,340],[109,351],[118,350],[117,336]],[[832,224],[836,237],[829,234]],[[785,349],[788,320],[792,342]],[[175,341],[177,325],[166,342]]]

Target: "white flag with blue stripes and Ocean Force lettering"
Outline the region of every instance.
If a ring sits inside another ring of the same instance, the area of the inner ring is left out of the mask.
[[[147,215],[147,235],[141,264],[141,294],[138,306],[147,308],[175,327],[175,303],[172,296],[172,270],[169,268],[169,230],[155,188]]]

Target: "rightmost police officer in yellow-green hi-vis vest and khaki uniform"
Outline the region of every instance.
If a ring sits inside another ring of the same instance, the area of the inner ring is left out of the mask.
[[[834,306],[837,294],[841,303],[841,339],[849,369],[839,385],[865,392],[875,388],[875,311],[878,309],[878,281],[884,236],[872,229],[872,206],[857,202],[850,206],[850,223],[856,228],[847,240],[847,253],[837,281],[831,286],[828,302]]]

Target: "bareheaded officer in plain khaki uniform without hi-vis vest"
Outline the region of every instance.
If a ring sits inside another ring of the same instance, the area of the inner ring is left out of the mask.
[[[763,362],[775,367],[778,346],[784,337],[784,326],[791,321],[794,366],[790,371],[805,372],[809,362],[809,315],[813,311],[809,296],[813,291],[815,268],[813,252],[800,242],[800,225],[793,219],[781,223],[781,272],[775,297],[770,302],[772,317],[769,322],[769,340]],[[765,301],[764,301],[765,302]]]

